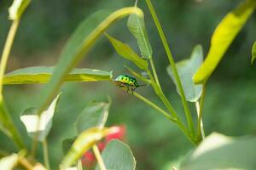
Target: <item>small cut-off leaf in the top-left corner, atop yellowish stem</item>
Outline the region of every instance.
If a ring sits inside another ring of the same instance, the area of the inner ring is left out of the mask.
[[[31,0],[15,0],[9,8],[9,19],[20,20],[21,15],[24,13],[29,3],[31,3]]]

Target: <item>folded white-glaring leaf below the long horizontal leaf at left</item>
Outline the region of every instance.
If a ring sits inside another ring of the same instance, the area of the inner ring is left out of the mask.
[[[44,141],[44,139],[46,139],[52,126],[52,119],[59,97],[60,94],[55,97],[49,105],[48,110],[44,111],[40,117],[38,116],[38,111],[35,108],[28,108],[22,112],[20,120],[24,123],[26,132],[29,136],[34,137],[34,134],[38,133],[39,141]]]

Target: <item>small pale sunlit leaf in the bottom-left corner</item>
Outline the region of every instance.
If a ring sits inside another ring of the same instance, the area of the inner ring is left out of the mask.
[[[0,159],[0,167],[4,170],[12,170],[18,164],[19,156],[17,154],[12,154],[11,156],[6,156]]]

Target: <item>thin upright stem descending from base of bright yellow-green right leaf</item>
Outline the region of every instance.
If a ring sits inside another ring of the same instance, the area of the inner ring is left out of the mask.
[[[203,84],[200,104],[197,104],[197,107],[199,108],[199,111],[197,111],[198,112],[198,120],[197,120],[197,138],[198,139],[205,139],[205,132],[204,132],[203,122],[202,122],[202,109],[204,105],[205,95],[206,95],[206,85]]]

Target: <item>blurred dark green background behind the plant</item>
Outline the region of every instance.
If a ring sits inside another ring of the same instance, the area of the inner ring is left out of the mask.
[[[218,22],[241,0],[193,0],[152,1],[166,33],[176,61],[188,58],[192,48],[201,43],[204,54]],[[8,8],[12,1],[0,1],[0,48],[3,50],[10,21]],[[22,17],[15,45],[9,59],[8,71],[35,65],[55,65],[61,48],[67,42],[81,20],[102,8],[132,6],[131,0],[34,0]],[[183,108],[170,77],[166,74],[167,58],[155,29],[148,8],[143,0],[149,40],[154,50],[154,62],[160,83],[172,104],[183,116]],[[120,20],[108,33],[127,42],[137,50],[137,42],[126,28],[126,20]],[[250,64],[251,49],[256,39],[256,14],[247,22],[224,59],[207,84],[203,121],[207,134],[212,132],[241,136],[256,134],[256,67]],[[138,50],[137,50],[138,51]],[[116,54],[105,37],[100,38],[89,56],[79,67],[113,71],[114,77],[128,73],[123,65],[130,65]],[[5,87],[9,111],[12,113],[26,144],[26,129],[20,122],[20,112],[36,106],[43,85],[15,85]],[[73,122],[91,100],[107,100],[111,96],[108,125],[124,124],[127,128],[127,143],[137,159],[137,169],[170,169],[172,161],[180,159],[194,146],[183,133],[164,116],[152,110],[137,98],[128,95],[110,82],[68,82],[62,88],[61,99],[49,133],[50,162],[55,166],[61,160],[61,140],[73,137]],[[137,91],[160,104],[151,88]],[[163,106],[163,105],[162,105]],[[195,105],[191,104],[195,113]],[[194,115],[195,116],[195,115]],[[0,149],[13,151],[14,144],[0,133]]]

